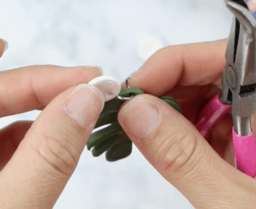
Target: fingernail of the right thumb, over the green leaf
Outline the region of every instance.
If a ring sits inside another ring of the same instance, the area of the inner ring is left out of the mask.
[[[161,121],[160,110],[143,96],[136,96],[119,112],[119,124],[138,139],[153,139]]]

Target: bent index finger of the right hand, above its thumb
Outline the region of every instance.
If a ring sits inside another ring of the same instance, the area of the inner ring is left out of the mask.
[[[227,40],[160,49],[136,73],[131,74],[129,85],[154,96],[161,96],[177,85],[220,86]],[[125,89],[125,83],[122,89]]]

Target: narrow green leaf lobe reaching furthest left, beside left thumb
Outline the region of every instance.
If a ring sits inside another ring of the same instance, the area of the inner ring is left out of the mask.
[[[100,131],[96,131],[95,133],[90,135],[90,138],[87,142],[87,148],[90,150],[90,148],[96,146],[97,143],[102,142],[102,140],[108,136],[114,136],[118,133],[123,132],[121,126],[119,123],[109,125],[107,128],[104,128]]]

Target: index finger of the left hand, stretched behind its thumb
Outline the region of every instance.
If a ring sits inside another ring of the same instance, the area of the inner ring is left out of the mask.
[[[30,66],[0,73],[0,117],[46,107],[68,88],[101,76],[99,67]]]

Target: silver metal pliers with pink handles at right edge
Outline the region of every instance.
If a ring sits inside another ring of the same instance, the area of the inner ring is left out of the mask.
[[[225,0],[233,13],[222,74],[222,92],[199,114],[195,127],[207,140],[214,125],[231,110],[236,169],[256,177],[256,143],[251,116],[256,111],[256,20],[242,0]]]

